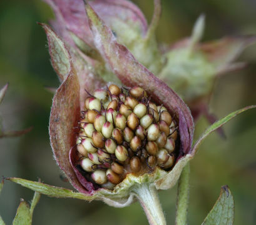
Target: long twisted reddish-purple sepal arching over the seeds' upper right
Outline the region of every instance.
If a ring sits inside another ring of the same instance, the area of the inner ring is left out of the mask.
[[[111,29],[101,21],[89,4],[86,4],[86,12],[90,18],[95,46],[121,82],[126,86],[141,86],[155,101],[163,103],[178,116],[182,152],[187,154],[192,146],[194,129],[193,118],[187,105],[163,81],[138,63],[125,46],[116,42]]]

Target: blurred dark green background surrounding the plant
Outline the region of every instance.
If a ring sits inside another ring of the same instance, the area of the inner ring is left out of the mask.
[[[153,1],[134,1],[150,21]],[[204,12],[206,30],[203,41],[225,35],[256,34],[254,0],[163,0],[157,29],[159,42],[171,43],[189,36],[193,23]],[[48,121],[52,94],[44,86],[59,84],[49,61],[46,36],[36,21],[53,17],[44,2],[0,1],[0,86],[9,82],[0,106],[8,129],[33,126],[21,138],[0,139],[0,175],[37,180],[71,188],[59,178],[61,172],[49,145]],[[222,76],[215,84],[210,103],[219,118],[231,111],[256,103],[256,45],[240,56],[248,61],[243,71]],[[207,128],[205,119],[197,124],[195,136]],[[235,224],[256,224],[256,111],[238,116],[224,126],[227,139],[212,134],[191,163],[189,224],[201,224],[220,192],[228,184],[235,198]],[[175,221],[177,187],[160,192],[168,224]],[[33,192],[5,182],[0,196],[0,214],[11,224],[20,198],[27,201]],[[53,199],[41,196],[34,211],[33,224],[147,224],[136,202],[116,209],[102,202]]]

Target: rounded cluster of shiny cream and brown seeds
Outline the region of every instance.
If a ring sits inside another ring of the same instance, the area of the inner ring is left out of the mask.
[[[111,84],[85,101],[76,139],[77,166],[101,187],[113,188],[126,174],[170,170],[175,163],[177,122],[144,89]]]

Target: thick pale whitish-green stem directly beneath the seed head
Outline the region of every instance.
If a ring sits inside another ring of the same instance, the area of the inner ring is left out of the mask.
[[[140,184],[133,189],[140,201],[150,225],[166,225],[163,209],[155,186],[147,183]]]

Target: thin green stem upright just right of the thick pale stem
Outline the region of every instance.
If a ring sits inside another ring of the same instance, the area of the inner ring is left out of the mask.
[[[176,209],[176,225],[187,224],[187,212],[188,212],[188,198],[189,198],[189,176],[190,176],[190,164],[182,171],[180,179],[178,181],[178,196],[177,196],[177,209]]]

